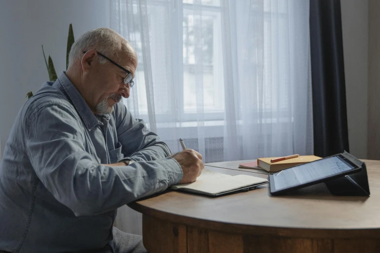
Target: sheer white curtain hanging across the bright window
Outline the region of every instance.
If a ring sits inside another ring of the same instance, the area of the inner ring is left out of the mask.
[[[204,162],[313,154],[309,1],[111,0],[110,11],[139,59],[124,103],[172,152],[182,138]]]

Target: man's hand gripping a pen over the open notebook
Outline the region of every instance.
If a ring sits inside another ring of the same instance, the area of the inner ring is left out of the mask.
[[[180,153],[171,156],[181,165],[183,177],[180,184],[194,182],[202,173],[204,168],[202,155],[193,149],[185,149]]]

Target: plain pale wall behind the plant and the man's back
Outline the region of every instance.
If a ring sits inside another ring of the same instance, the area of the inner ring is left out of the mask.
[[[41,45],[57,75],[66,70],[68,26],[74,37],[110,26],[109,0],[0,0],[0,150],[29,91],[49,80]]]

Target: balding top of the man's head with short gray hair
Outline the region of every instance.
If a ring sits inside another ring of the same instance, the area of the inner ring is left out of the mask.
[[[75,60],[81,59],[83,51],[95,49],[106,56],[113,56],[120,52],[122,43],[120,43],[120,35],[109,28],[97,28],[83,33],[72,45],[68,54],[68,67]],[[106,59],[99,58],[99,63],[106,63]]]

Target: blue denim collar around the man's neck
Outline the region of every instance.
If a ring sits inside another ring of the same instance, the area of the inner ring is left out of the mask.
[[[79,115],[81,116],[83,120],[84,125],[87,127],[88,130],[91,130],[94,126],[97,126],[98,124],[103,125],[98,120],[98,118],[94,115],[91,109],[88,107],[88,105],[86,104],[86,101],[84,101],[82,95],[79,93],[77,88],[75,88],[74,84],[72,84],[72,82],[67,78],[65,71],[59,76],[57,81],[65,90],[67,96],[71,100],[71,103],[73,104],[75,109],[78,111]],[[104,116],[109,116],[109,115],[104,115]]]

